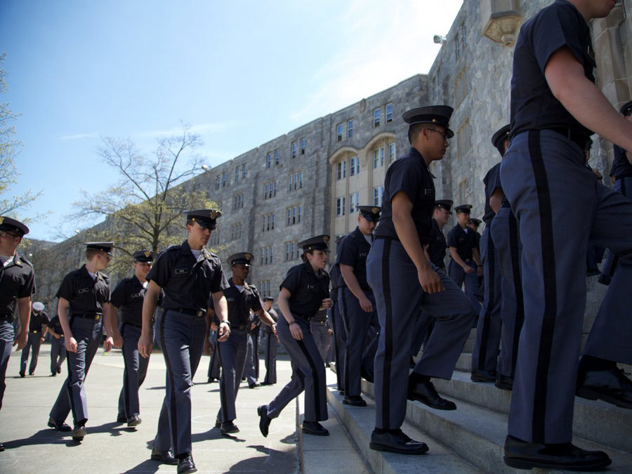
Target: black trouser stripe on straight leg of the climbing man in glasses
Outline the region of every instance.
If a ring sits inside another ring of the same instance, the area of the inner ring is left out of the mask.
[[[388,430],[390,426],[390,364],[393,362],[393,306],[390,300],[390,239],[384,239],[382,252],[382,291],[386,315],[384,318],[384,367],[382,369],[382,428]],[[410,353],[411,348],[407,348]],[[406,388],[407,389],[407,388]],[[397,427],[399,428],[399,427]]]

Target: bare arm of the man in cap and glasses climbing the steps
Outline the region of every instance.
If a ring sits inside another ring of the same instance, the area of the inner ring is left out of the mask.
[[[397,237],[402,242],[404,250],[417,268],[417,278],[423,291],[427,293],[443,291],[444,287],[441,278],[428,264],[426,255],[421,248],[419,235],[417,235],[415,223],[411,216],[412,202],[405,192],[400,191],[393,197],[391,204],[393,206],[395,232],[397,232]]]

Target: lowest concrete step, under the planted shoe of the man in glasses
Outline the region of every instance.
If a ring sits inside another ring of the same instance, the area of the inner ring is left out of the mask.
[[[375,473],[478,473],[480,470],[472,466],[460,456],[454,454],[433,440],[427,433],[404,422],[402,430],[414,440],[425,442],[430,448],[428,454],[421,456],[402,456],[388,452],[374,451],[369,447],[371,432],[375,426],[375,402],[367,400],[367,407],[349,407],[342,403],[342,396],[333,385],[327,390],[329,406],[333,407],[340,417],[350,436],[355,441],[362,458]],[[331,412],[329,414],[331,417]],[[324,423],[323,423],[324,424]],[[305,470],[305,472],[308,472]],[[316,471],[315,471],[316,472]],[[317,471],[317,472],[320,472]],[[344,472],[343,469],[338,472]],[[355,469],[348,472],[357,472]]]

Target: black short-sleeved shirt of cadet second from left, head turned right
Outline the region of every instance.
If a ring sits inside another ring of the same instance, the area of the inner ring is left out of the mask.
[[[103,303],[110,301],[110,279],[101,272],[92,279],[83,265],[64,277],[57,297],[70,303],[70,315],[103,314]]]

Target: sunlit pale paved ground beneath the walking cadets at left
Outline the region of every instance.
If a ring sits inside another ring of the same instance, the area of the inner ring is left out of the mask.
[[[99,350],[86,380],[88,435],[81,443],[70,433],[57,433],[46,426],[48,412],[64,380],[50,374],[50,345],[42,346],[34,376],[20,378],[20,353],[11,353],[3,407],[0,410],[0,473],[155,473],[176,472],[176,466],[151,461],[159,409],[164,397],[165,367],[162,354],[152,355],[147,378],[140,390],[140,416],[137,430],[116,422],[117,401],[122,385],[123,357],[119,350],[109,354]],[[293,402],[272,421],[264,438],[258,429],[256,407],[268,403],[290,378],[289,360],[277,361],[275,386],[250,390],[242,383],[237,397],[240,432],[225,437],[215,426],[219,409],[218,383],[206,383],[209,357],[202,357],[192,388],[193,458],[201,473],[276,472],[299,470],[296,403]],[[265,374],[261,361],[262,377]],[[303,397],[301,403],[303,402]],[[67,423],[72,425],[72,416]]]

